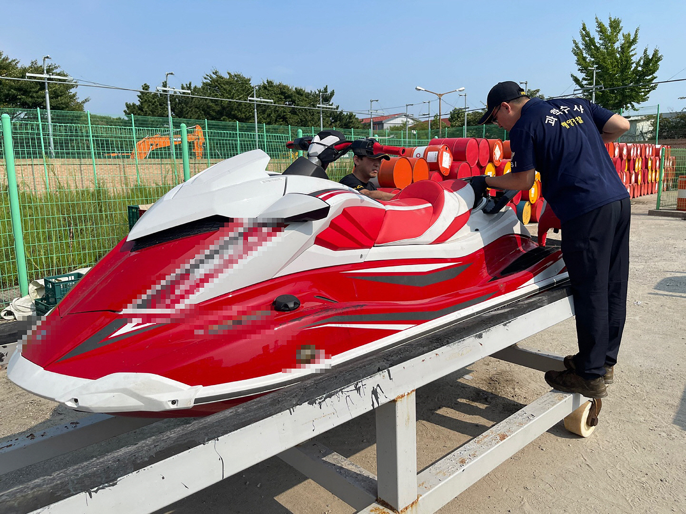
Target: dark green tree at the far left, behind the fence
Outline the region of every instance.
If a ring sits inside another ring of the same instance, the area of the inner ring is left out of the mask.
[[[47,73],[68,77],[58,64],[48,61]],[[43,63],[32,60],[23,66],[19,60],[12,59],[0,51],[0,75],[4,77],[25,78],[26,73],[43,73]],[[49,82],[50,108],[55,110],[83,111],[84,104],[89,98],[79,100],[75,93],[76,84],[60,81],[59,84]],[[0,107],[45,109],[45,82],[27,80],[0,80]]]

